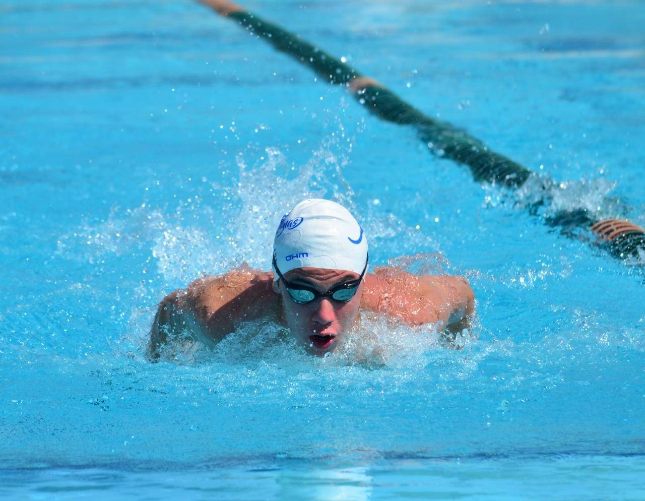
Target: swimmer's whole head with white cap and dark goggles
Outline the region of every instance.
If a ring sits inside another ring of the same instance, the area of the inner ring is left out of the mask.
[[[273,240],[273,289],[284,321],[308,351],[332,351],[361,304],[368,246],[361,225],[341,205],[300,202],[284,215]]]

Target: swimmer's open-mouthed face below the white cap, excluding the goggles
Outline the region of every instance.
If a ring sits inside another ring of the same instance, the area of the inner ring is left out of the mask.
[[[358,273],[322,268],[296,268],[284,274],[294,285],[303,285],[324,293],[334,286],[357,280]],[[283,315],[286,326],[304,348],[314,355],[333,351],[352,326],[361,305],[364,280],[348,302],[318,297],[307,304],[298,304],[286,290],[284,280],[273,282],[274,290],[283,297]]]

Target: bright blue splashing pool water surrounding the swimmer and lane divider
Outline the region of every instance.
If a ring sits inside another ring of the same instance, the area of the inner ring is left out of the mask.
[[[247,6],[560,184],[530,215],[539,179],[473,182],[190,1],[2,0],[0,496],[644,498],[642,272],[543,224],[645,224],[643,4]],[[268,269],[308,196],[373,264],[466,275],[474,336],[368,317],[313,359],[246,325],[148,363],[157,302]]]

